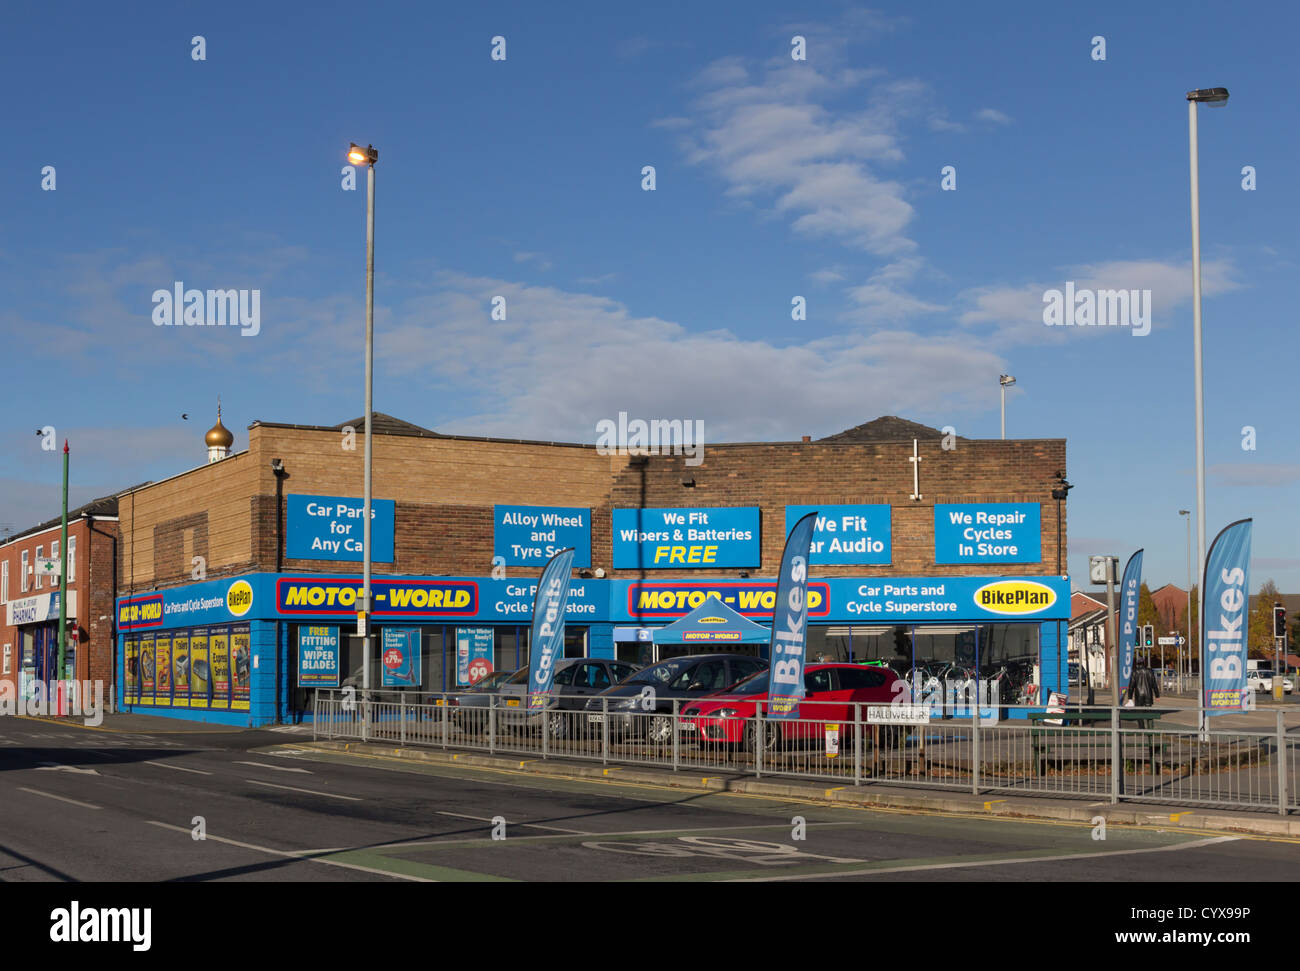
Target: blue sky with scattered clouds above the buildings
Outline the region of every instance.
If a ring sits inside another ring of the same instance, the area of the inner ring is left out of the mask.
[[[81,500],[202,463],[218,394],[237,447],[255,419],[361,412],[355,139],[380,151],[378,411],[586,442],[619,411],[706,442],[879,415],[996,438],[1006,372],[1009,435],[1067,439],[1070,572],[1145,547],[1152,586],[1182,585],[1184,94],[1223,84],[1200,114],[1208,532],[1253,516],[1252,586],[1300,590],[1294,8],[458,6],[9,4],[0,524],[57,512],[40,426]],[[260,333],[155,326],[176,281],[260,290]],[[1044,326],[1066,281],[1149,289],[1150,333]]]

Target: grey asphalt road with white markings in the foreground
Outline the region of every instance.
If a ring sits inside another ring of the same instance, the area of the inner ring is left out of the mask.
[[[1095,840],[1070,823],[693,793],[616,770],[543,779],[177,725],[0,720],[0,881],[1300,876],[1300,841],[1117,825]]]

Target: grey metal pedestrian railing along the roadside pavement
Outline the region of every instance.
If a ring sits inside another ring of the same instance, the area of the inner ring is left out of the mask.
[[[1006,719],[1006,708],[936,705],[928,724],[880,724],[862,703],[803,702],[796,719],[766,699],[711,712],[710,699],[563,698],[529,711],[517,694],[320,690],[313,738],[585,759],[696,773],[789,776],[836,785],[885,784],[1097,801],[1300,810],[1300,706],[1234,714],[1201,725],[1196,707],[1069,706],[1058,716]],[[698,714],[703,707],[705,712]],[[889,708],[889,706],[879,706]],[[1043,712],[1041,708],[1036,710]],[[993,718],[993,715],[1000,718]],[[1161,718],[1164,716],[1164,718]],[[1063,721],[1050,724],[1048,719]],[[1162,721],[1162,723],[1161,723]]]

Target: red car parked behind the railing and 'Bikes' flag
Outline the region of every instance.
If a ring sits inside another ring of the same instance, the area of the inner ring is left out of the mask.
[[[701,742],[745,744],[754,747],[754,710],[763,705],[767,714],[767,671],[760,671],[729,688],[681,710],[682,731]],[[826,723],[853,723],[854,703],[889,705],[911,698],[907,682],[885,667],[861,664],[809,664],[803,668],[807,694],[800,702],[798,719],[764,720],[763,747],[774,749],[783,740],[818,738]],[[896,685],[898,685],[896,688]],[[866,711],[862,712],[866,718]],[[842,729],[841,729],[842,731]]]

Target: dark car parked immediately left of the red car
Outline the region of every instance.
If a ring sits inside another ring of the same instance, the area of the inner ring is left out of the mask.
[[[675,701],[720,692],[766,669],[766,660],[744,654],[694,654],[660,660],[589,699],[588,723],[599,728],[607,706],[611,736],[671,741]]]

